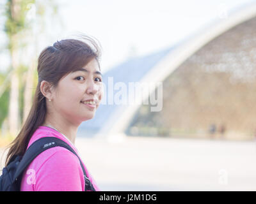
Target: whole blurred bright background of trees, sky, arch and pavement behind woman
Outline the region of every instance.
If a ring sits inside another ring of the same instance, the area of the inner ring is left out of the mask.
[[[1,0],[1,157],[30,110],[38,55],[80,33],[102,47],[106,103],[76,139],[100,189],[256,190],[256,1]],[[157,104],[111,103],[118,82],[155,83],[143,97]]]

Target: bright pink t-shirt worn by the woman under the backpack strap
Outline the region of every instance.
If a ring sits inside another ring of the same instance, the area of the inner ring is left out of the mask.
[[[29,140],[28,147],[45,136],[60,138],[79,156],[76,147],[64,135],[46,126],[39,126],[36,129]],[[80,156],[79,158],[81,159]],[[84,170],[95,191],[100,191],[85,165]],[[84,191],[84,176],[79,159],[64,147],[45,150],[24,170],[20,191]]]

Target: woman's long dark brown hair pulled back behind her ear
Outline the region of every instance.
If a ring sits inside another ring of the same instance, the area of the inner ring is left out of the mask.
[[[45,97],[40,91],[42,80],[56,87],[61,78],[67,76],[74,69],[85,66],[93,58],[99,63],[100,46],[98,41],[89,36],[82,36],[82,39],[56,41],[52,46],[45,48],[39,55],[37,66],[38,84],[33,98],[33,105],[19,135],[8,145],[10,149],[6,156],[5,165],[10,163],[13,156],[24,155],[31,136],[45,121],[47,108]]]

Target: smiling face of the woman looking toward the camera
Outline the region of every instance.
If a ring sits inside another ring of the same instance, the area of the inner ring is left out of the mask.
[[[69,73],[59,81],[53,94],[54,109],[68,120],[81,123],[92,119],[103,94],[98,62],[92,59],[80,70]]]

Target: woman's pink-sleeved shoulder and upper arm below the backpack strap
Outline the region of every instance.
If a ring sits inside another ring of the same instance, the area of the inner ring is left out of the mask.
[[[25,185],[33,184],[35,191],[83,191],[84,185],[79,159],[64,147],[52,147],[38,155],[22,179]]]

